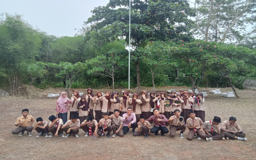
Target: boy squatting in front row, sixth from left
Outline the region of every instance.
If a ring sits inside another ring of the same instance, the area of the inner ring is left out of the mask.
[[[111,126],[112,120],[110,120],[108,117],[109,117],[109,114],[104,113],[103,118],[100,119],[100,122],[98,125],[98,127],[99,127],[98,134],[101,136],[105,136],[105,132],[108,131],[107,137],[111,138],[110,133],[111,133],[113,127]]]

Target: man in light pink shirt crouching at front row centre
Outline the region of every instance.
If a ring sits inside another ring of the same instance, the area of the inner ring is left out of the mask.
[[[137,123],[136,123],[136,115],[132,113],[132,108],[127,108],[127,113],[123,115],[123,122],[124,122],[124,127],[123,127],[124,134],[129,132],[131,127],[132,127],[132,133],[134,133],[134,130],[137,127]]]

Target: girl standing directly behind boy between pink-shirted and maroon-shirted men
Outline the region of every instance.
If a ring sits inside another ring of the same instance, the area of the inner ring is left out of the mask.
[[[150,110],[150,97],[146,90],[143,90],[140,96],[141,100],[141,115],[144,116],[146,119],[151,116]]]

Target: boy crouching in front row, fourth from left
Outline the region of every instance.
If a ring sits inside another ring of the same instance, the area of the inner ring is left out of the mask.
[[[78,138],[78,132],[80,127],[80,120],[77,119],[77,115],[72,115],[71,120],[68,120],[65,125],[61,127],[66,132],[65,138],[68,138],[70,134],[74,134]]]

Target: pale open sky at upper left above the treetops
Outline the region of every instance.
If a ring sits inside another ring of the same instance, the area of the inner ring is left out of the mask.
[[[92,16],[97,6],[105,6],[109,0],[4,0],[0,13],[22,15],[22,19],[35,29],[55,36],[74,36],[83,22]]]

